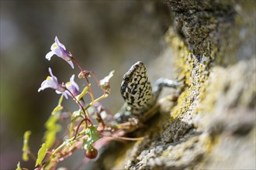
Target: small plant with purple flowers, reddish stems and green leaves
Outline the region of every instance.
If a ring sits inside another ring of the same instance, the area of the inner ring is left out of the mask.
[[[52,70],[49,68],[50,76],[43,81],[39,92],[47,88],[54,89],[57,94],[61,94],[57,107],[54,108],[47,122],[45,123],[46,131],[43,135],[43,144],[37,153],[37,157],[29,150],[29,136],[31,131],[26,131],[24,134],[22,147],[22,160],[28,161],[29,158],[35,160],[36,169],[55,169],[58,162],[71,156],[77,149],[85,150],[85,158],[97,158],[98,149],[106,145],[112,138],[123,138],[125,131],[122,124],[112,125],[114,122],[112,114],[103,107],[99,101],[108,97],[110,93],[109,80],[113,76],[114,71],[111,71],[108,76],[102,80],[98,80],[93,71],[83,70],[78,60],[67,52],[65,46],[55,38],[54,44],[50,47],[51,51],[47,53],[46,58],[51,59],[56,55],[64,59],[74,69],[74,63],[79,67],[81,73],[78,78],[85,80],[87,85],[80,91],[78,84],[74,81],[74,74],[71,76],[69,82],[59,83],[57,77],[54,76]],[[74,63],[73,63],[74,62]],[[102,96],[95,97],[91,83],[88,77],[93,76],[99,88],[102,90]],[[85,101],[84,97],[88,95],[91,100]],[[71,111],[62,104],[64,97],[67,99],[71,97],[75,104],[78,105],[78,110]],[[66,116],[67,115],[67,116]],[[69,119],[67,131],[64,131],[64,138],[57,140],[57,133],[61,129],[59,120],[62,117]],[[106,124],[108,122],[108,124]],[[128,139],[129,138],[124,138]],[[137,139],[134,139],[137,140]],[[98,145],[95,145],[97,144]],[[18,163],[16,170],[21,170],[20,163]]]

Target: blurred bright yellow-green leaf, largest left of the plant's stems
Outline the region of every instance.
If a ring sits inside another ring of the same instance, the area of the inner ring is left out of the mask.
[[[50,148],[54,145],[57,132],[61,131],[61,125],[57,124],[59,120],[59,114],[51,114],[44,126],[47,128],[47,131],[44,132],[43,140],[47,148]]]

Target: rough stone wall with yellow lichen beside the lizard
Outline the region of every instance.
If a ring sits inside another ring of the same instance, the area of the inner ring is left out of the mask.
[[[255,2],[168,5],[175,24],[165,40],[185,87],[169,117],[132,134],[146,137],[123,147],[112,168],[255,169]]]

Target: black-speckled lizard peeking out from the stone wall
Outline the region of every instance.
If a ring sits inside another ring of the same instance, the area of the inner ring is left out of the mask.
[[[163,87],[181,87],[182,82],[160,78],[151,87],[147,77],[147,68],[141,61],[133,64],[121,83],[121,94],[125,104],[115,114],[117,123],[131,122],[134,126],[147,121],[157,113],[157,98]],[[133,130],[132,130],[133,131]]]

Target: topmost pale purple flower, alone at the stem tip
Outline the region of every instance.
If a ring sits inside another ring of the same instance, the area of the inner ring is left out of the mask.
[[[59,39],[57,39],[57,36],[55,37],[54,44],[50,46],[50,50],[51,51],[47,53],[47,56],[45,56],[46,59],[50,60],[50,58],[55,54],[56,56],[61,57],[61,59],[67,61],[67,63],[69,63],[72,69],[74,69],[74,64],[71,61],[71,53],[68,53],[66,51],[66,47],[59,41]]]

